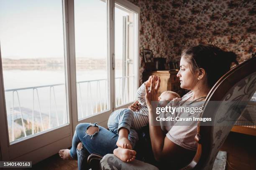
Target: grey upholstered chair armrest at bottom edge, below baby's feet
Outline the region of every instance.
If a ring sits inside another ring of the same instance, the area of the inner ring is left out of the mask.
[[[100,170],[159,170],[154,165],[144,163],[140,160],[134,160],[131,163],[125,163],[113,154],[105,155],[100,160]]]

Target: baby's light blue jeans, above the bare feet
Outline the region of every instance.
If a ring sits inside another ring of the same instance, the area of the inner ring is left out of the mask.
[[[138,141],[138,133],[131,125],[133,123],[133,111],[130,109],[118,109],[111,113],[108,119],[108,128],[110,132],[118,135],[120,128],[126,128],[129,131],[128,140],[134,148]]]

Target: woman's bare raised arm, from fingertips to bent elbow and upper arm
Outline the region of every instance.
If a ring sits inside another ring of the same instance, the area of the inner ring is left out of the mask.
[[[155,86],[156,80],[157,84]],[[157,106],[154,103],[157,101],[157,92],[160,87],[160,82],[161,80],[159,77],[153,77],[149,91],[146,86],[146,102],[149,111],[149,134],[154,157],[157,161],[162,162],[164,160],[168,160],[169,162],[185,165],[193,158],[195,152],[173,143],[166,137],[166,134],[161,130],[160,126],[153,124],[153,121],[156,119]]]

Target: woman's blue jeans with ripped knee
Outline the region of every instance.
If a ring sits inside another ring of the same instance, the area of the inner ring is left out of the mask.
[[[99,128],[94,134],[89,135],[86,130],[90,126],[97,126]],[[87,157],[91,153],[97,153],[102,156],[113,153],[118,140],[118,135],[110,132],[106,128],[97,125],[97,123],[79,123],[74,132],[72,140],[72,148],[70,149],[70,156],[77,159],[78,170],[89,169],[87,164]],[[82,142],[82,149],[78,150],[78,143]]]

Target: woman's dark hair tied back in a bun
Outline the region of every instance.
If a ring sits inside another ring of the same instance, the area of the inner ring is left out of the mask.
[[[189,47],[182,52],[182,57],[189,62],[192,73],[199,68],[205,69],[207,83],[212,87],[221,76],[230,70],[233,63],[238,65],[237,55],[234,52],[226,52],[215,45],[197,45]]]

